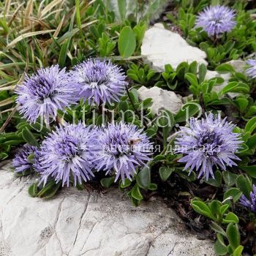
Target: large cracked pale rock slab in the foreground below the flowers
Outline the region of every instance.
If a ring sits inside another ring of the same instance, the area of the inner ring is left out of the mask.
[[[214,255],[158,198],[135,208],[117,189],[64,188],[42,200],[29,197],[32,181],[0,168],[1,256]]]

